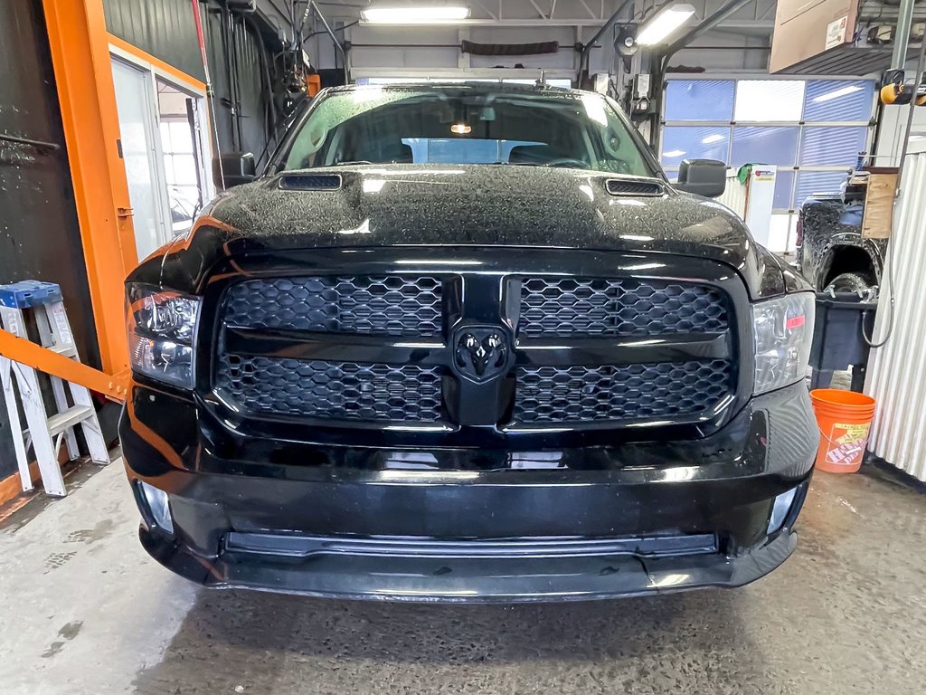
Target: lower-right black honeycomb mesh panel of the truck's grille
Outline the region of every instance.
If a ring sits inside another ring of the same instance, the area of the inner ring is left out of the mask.
[[[727,360],[599,367],[519,367],[516,423],[694,415],[732,390]]]

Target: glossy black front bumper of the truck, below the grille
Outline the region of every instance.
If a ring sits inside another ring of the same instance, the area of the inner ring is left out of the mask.
[[[477,449],[292,442],[242,460],[213,428],[192,400],[134,385],[119,429],[146,550],[209,587],[388,600],[747,584],[794,550],[817,445],[804,385],[754,398],[704,438],[509,452],[497,465]],[[138,481],[168,492],[172,534],[153,522]]]

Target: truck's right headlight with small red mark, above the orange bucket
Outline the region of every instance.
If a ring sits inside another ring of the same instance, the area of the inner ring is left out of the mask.
[[[753,305],[758,394],[794,384],[807,375],[816,297],[798,292]]]

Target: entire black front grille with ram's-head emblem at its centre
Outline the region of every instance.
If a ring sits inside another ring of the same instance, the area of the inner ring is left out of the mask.
[[[476,253],[439,274],[382,272],[383,251],[378,272],[232,281],[217,299],[211,388],[246,418],[498,436],[702,423],[736,396],[731,292],[745,301],[745,289],[729,270],[687,281],[680,269],[703,261],[660,257],[666,278],[595,275],[612,266],[586,254],[582,274],[550,275],[582,252],[545,252],[543,272],[512,251]],[[490,343],[507,350],[501,372],[467,373],[462,353]]]

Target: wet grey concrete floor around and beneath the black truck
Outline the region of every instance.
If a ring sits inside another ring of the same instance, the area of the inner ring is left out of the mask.
[[[0,529],[15,693],[926,689],[926,496],[818,474],[795,556],[736,591],[447,607],[206,591],[149,560],[121,466]]]

